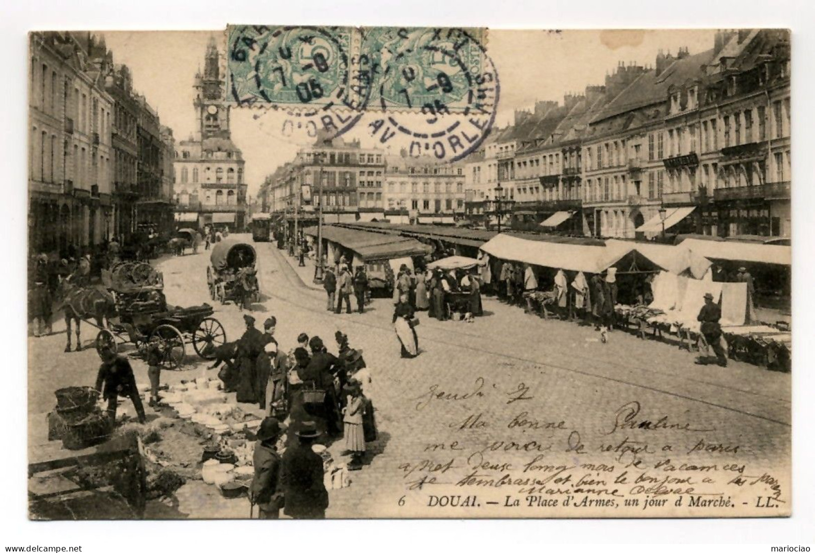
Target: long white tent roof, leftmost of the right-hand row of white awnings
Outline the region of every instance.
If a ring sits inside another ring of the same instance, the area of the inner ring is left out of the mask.
[[[499,234],[481,246],[481,249],[499,259],[583,272],[602,272],[633,250],[633,248],[623,251],[619,248],[606,248],[606,246],[532,241],[507,234]]]

